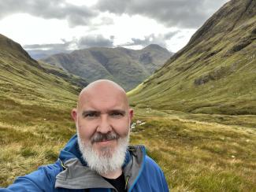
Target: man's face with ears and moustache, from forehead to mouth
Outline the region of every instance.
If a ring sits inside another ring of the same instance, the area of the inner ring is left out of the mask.
[[[119,139],[128,137],[132,113],[120,90],[93,89],[81,95],[72,116],[81,142],[99,156],[112,157]]]

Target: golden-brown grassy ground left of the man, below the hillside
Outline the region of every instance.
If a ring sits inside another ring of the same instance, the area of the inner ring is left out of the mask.
[[[0,120],[0,186],[56,161],[76,131],[68,110],[33,107],[23,106]]]

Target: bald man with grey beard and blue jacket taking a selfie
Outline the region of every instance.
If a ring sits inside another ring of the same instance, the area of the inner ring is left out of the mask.
[[[54,164],[18,177],[0,191],[169,191],[143,146],[128,146],[133,110],[125,91],[109,80],[85,87],[72,109],[73,136]]]

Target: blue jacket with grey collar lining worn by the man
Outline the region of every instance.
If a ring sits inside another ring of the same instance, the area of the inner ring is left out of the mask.
[[[129,146],[123,165],[126,188],[130,192],[169,191],[165,176],[144,146]],[[86,190],[87,189],[87,190]],[[35,172],[18,177],[1,192],[104,192],[117,191],[110,183],[87,167],[74,135],[61,150],[58,161],[39,167]]]

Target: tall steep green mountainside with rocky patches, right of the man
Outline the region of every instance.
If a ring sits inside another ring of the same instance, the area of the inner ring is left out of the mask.
[[[256,114],[256,1],[224,4],[153,76],[132,105],[190,113]]]

